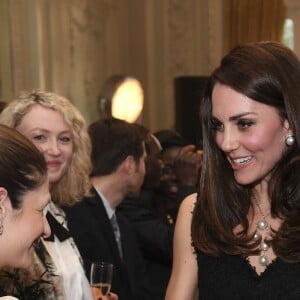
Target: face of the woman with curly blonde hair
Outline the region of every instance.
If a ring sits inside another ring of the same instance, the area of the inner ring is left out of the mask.
[[[66,173],[73,155],[73,137],[60,112],[36,104],[16,128],[44,154],[50,184]]]

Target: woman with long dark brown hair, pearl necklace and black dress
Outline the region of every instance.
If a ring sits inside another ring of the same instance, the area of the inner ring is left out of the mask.
[[[300,62],[232,49],[202,101],[199,197],[179,212],[167,300],[300,299]]]

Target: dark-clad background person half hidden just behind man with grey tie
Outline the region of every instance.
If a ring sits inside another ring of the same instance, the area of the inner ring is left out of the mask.
[[[166,222],[153,210],[160,187],[163,162],[157,138],[142,125],[136,124],[145,142],[146,173],[139,197],[127,197],[118,211],[131,222],[146,264],[151,299],[163,300],[172,268],[174,224]]]

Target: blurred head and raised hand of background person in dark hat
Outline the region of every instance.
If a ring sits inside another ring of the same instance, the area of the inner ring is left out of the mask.
[[[157,197],[155,209],[158,214],[167,216],[168,222],[176,221],[182,200],[196,192],[199,183],[202,152],[189,144],[174,130],[164,129],[154,133],[162,150],[163,162],[160,178],[160,197]]]

